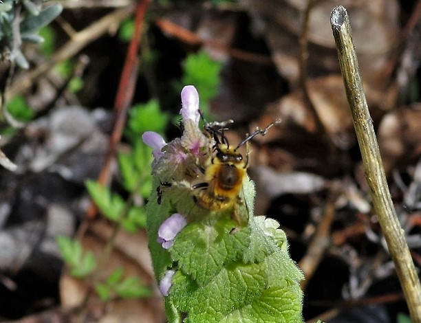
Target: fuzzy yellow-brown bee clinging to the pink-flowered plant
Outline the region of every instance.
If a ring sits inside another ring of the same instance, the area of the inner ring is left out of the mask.
[[[250,155],[250,140],[256,135],[266,135],[272,126],[281,121],[272,122],[265,129],[257,128],[251,135],[240,142],[237,146],[230,146],[224,135],[225,125],[228,122],[205,124],[205,131],[215,140],[213,154],[210,163],[204,168],[204,180],[192,186],[193,199],[199,207],[206,210],[218,211],[233,207],[233,220],[239,225],[246,224],[247,219],[241,219],[237,212],[237,205],[243,205],[241,198],[244,179],[247,174]],[[239,152],[241,146],[246,145],[245,158]],[[244,218],[244,217],[243,217]]]

